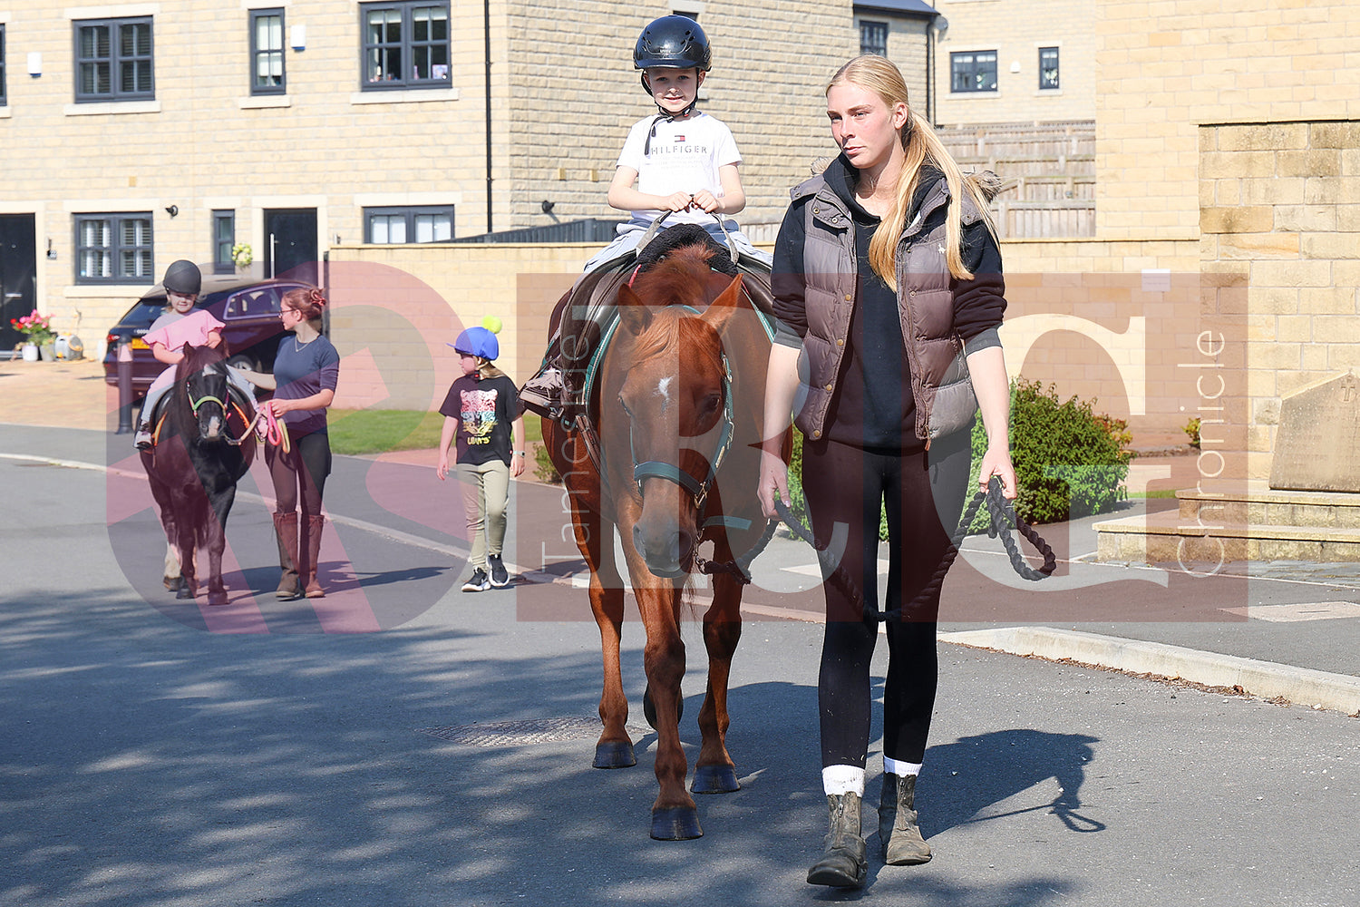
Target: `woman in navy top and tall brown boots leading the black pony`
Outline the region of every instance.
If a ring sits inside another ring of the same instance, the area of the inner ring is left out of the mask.
[[[276,509],[273,526],[279,541],[279,598],[321,598],[317,555],[321,553],[321,492],[330,475],[330,438],[326,408],[335,401],[340,378],[340,354],[321,336],[321,311],[326,298],[320,290],[290,290],[283,296],[279,320],[292,337],[279,344],[273,374],[242,370],[254,385],[273,390],[264,404],[288,432],[288,449],[265,446],[265,462],[273,479]],[[302,518],[298,518],[298,504]]]

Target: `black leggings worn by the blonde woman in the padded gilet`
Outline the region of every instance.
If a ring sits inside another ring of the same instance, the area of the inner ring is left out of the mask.
[[[836,524],[849,530],[842,563],[857,594],[877,608],[879,514],[887,504],[888,587],[884,611],[910,602],[930,577],[959,525],[971,465],[970,432],[936,441],[929,451],[872,451],[832,441],[802,445],[802,488],[819,545]],[[948,529],[947,529],[948,528]],[[877,621],[865,620],[847,590],[824,582],[827,628],[821,646],[817,700],[821,764],[864,767],[869,749],[872,698],[869,662]],[[883,689],[883,753],[908,763],[925,760],[930,713],[938,681],[936,621],[938,592],[891,620],[888,676]]]

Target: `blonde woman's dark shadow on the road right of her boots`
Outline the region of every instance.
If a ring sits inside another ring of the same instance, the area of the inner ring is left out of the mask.
[[[921,772],[922,794],[929,791],[929,806],[921,813],[922,831],[929,838],[955,825],[1028,812],[1057,816],[1069,831],[1104,831],[1104,823],[1078,812],[1095,742],[1099,737],[1021,728],[930,747]],[[1032,805],[989,809],[1050,778],[1058,782],[1057,797],[1046,800],[1034,791]]]

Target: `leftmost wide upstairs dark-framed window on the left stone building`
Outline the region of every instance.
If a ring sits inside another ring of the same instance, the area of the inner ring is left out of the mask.
[[[78,19],[76,102],[151,101],[155,92],[151,16]]]

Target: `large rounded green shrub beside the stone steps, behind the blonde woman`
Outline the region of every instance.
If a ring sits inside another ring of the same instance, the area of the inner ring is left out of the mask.
[[[1053,385],[1017,379],[1010,386],[1010,461],[1020,495],[1016,513],[1031,524],[1058,522],[1111,510],[1125,496],[1133,453],[1129,423],[1092,411],[1095,400],[1062,403]],[[972,481],[978,487],[987,434],[982,419],[972,427]],[[982,532],[979,513],[970,529]]]

